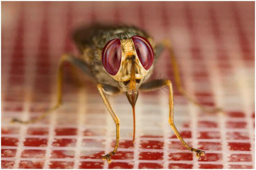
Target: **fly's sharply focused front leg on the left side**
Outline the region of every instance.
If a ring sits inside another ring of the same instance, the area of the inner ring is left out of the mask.
[[[107,107],[108,112],[112,116],[112,118],[113,118],[113,120],[115,122],[115,126],[116,126],[115,147],[114,147],[112,152],[102,156],[103,160],[107,160],[108,163],[110,163],[111,162],[111,156],[113,156],[117,152],[117,148],[119,146],[119,131],[120,131],[120,129],[119,129],[119,118],[117,117],[117,115],[113,111],[112,107],[110,106],[110,103],[108,102],[108,99],[106,98],[106,95],[104,94],[105,93],[104,91],[107,90],[107,91],[110,91],[110,92],[114,92],[117,89],[115,89],[114,87],[109,86],[109,85],[104,85],[103,86],[102,84],[98,84],[97,88],[98,88],[98,90],[99,90],[99,92],[101,94],[101,98],[102,98],[105,106]]]

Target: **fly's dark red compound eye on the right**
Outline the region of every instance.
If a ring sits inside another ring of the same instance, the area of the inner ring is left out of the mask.
[[[132,36],[132,41],[139,57],[139,61],[145,70],[148,70],[154,61],[153,49],[146,38],[141,36]]]

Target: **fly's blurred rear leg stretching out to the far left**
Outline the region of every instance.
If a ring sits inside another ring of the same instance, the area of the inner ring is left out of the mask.
[[[82,61],[81,59],[72,57],[71,55],[68,55],[68,54],[62,55],[62,57],[60,58],[59,64],[58,64],[58,73],[57,73],[57,103],[51,109],[42,113],[42,115],[40,115],[36,118],[27,120],[27,121],[23,121],[23,120],[14,118],[13,120],[11,120],[11,122],[18,122],[18,123],[23,123],[23,124],[38,122],[59,108],[59,106],[62,104],[63,64],[65,62],[71,63],[73,66],[80,68],[82,71],[84,71],[89,76],[92,75],[90,72],[90,69],[88,68],[86,63],[84,63],[84,61]]]

